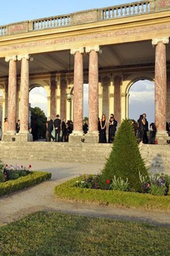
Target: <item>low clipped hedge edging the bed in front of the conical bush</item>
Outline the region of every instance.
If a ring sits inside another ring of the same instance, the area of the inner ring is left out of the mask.
[[[78,188],[74,187],[77,180],[81,181],[83,177],[72,179],[55,187],[56,197],[80,202],[170,212],[170,195],[152,196],[134,192]]]

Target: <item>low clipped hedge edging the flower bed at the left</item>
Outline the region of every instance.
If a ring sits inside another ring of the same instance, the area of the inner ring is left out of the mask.
[[[23,188],[28,188],[49,180],[52,177],[50,172],[31,172],[27,176],[16,180],[9,180],[0,183],[0,196],[13,193]]]

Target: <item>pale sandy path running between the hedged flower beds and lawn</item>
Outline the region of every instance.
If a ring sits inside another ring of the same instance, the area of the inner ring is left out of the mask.
[[[3,159],[7,164],[29,165],[32,170],[52,172],[52,179],[35,187],[28,188],[0,199],[0,226],[18,220],[36,211],[58,211],[71,214],[87,215],[89,217],[104,217],[120,220],[148,222],[158,226],[170,227],[170,214],[126,209],[123,207],[102,206],[96,204],[81,204],[65,202],[55,198],[54,187],[68,179],[84,173],[97,173],[103,167],[101,164],[50,163],[12,161]]]

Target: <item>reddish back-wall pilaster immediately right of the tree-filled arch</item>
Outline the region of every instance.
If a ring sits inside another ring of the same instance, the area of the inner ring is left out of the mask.
[[[50,83],[50,117],[53,120],[56,118],[56,113],[56,81],[54,77]]]

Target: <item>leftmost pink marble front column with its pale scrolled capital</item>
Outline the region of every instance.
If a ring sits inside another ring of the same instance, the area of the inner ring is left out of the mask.
[[[16,56],[6,57],[9,61],[8,76],[8,132],[15,133],[16,130]]]

